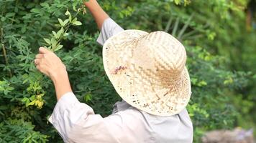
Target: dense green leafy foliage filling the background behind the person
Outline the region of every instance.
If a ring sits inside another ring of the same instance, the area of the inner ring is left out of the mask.
[[[167,31],[186,46],[194,142],[207,130],[244,125],[244,116],[249,122],[256,118],[247,115],[256,100],[255,69],[250,67],[255,31],[243,32],[247,2],[100,1],[124,28]],[[82,14],[83,7],[78,12],[81,5],[68,0],[0,2],[0,142],[62,142],[47,124],[56,100],[52,82],[33,63],[39,46],[60,56],[73,92],[97,114],[111,114],[120,99],[104,72],[101,46],[96,44],[99,31],[92,17]]]

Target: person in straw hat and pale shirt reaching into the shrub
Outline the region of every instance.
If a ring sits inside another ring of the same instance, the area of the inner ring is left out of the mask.
[[[192,142],[186,111],[191,84],[186,51],[163,31],[124,30],[96,0],[85,2],[101,29],[104,69],[122,102],[101,117],[76,99],[63,62],[40,47],[35,64],[55,86],[58,99],[49,121],[64,142]]]

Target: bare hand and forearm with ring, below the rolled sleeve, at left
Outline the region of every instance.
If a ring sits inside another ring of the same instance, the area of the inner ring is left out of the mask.
[[[65,93],[72,92],[68,72],[60,58],[52,51],[40,47],[39,52],[35,59],[37,69],[52,79],[59,100]]]

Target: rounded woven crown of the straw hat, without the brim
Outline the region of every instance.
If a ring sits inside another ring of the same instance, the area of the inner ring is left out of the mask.
[[[137,39],[133,50],[134,64],[143,69],[168,71],[170,74],[180,73],[186,64],[186,50],[170,34],[155,31],[141,39]]]

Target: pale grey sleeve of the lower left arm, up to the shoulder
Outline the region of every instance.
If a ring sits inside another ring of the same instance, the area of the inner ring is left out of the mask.
[[[130,107],[103,118],[94,114],[87,104],[79,102],[73,92],[59,99],[49,121],[64,142],[128,143],[145,142],[145,139],[153,142],[151,129],[137,109]]]

